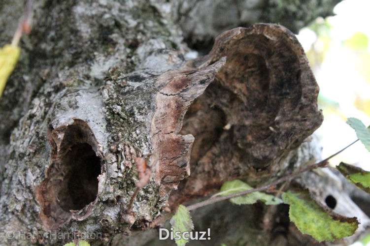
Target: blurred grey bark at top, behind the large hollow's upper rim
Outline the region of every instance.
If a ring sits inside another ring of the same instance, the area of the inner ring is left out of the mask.
[[[174,1],[172,17],[187,43],[201,52],[221,32],[257,22],[279,23],[298,33],[318,16],[333,15],[340,0],[188,0]]]

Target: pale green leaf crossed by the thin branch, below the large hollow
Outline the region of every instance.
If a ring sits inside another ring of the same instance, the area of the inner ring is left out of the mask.
[[[253,187],[240,180],[227,181],[222,184],[220,192],[215,194],[215,196],[226,196],[252,188]],[[277,205],[283,203],[281,199],[259,191],[230,199],[232,203],[237,205],[253,204],[256,203],[258,200],[264,202],[266,205]]]

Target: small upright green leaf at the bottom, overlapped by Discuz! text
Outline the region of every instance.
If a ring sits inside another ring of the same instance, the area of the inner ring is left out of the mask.
[[[176,214],[172,216],[169,223],[172,225],[174,235],[178,231],[182,234],[183,232],[190,232],[194,229],[189,210],[184,205],[178,206]],[[189,242],[189,240],[183,238],[175,241],[177,246],[184,246]]]

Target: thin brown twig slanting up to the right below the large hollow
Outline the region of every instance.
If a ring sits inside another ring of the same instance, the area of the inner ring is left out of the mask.
[[[280,179],[277,179],[277,180],[275,180],[274,182],[272,182],[270,184],[265,184],[265,185],[262,185],[260,187],[254,188],[254,189],[244,190],[244,191],[233,193],[233,194],[230,194],[230,195],[227,195],[227,196],[211,197],[211,198],[209,198],[205,201],[190,205],[190,206],[187,207],[187,209],[189,211],[191,211],[191,210],[195,210],[195,209],[204,207],[204,206],[209,205],[209,204],[213,204],[213,203],[224,201],[224,200],[229,200],[230,198],[234,198],[234,197],[238,197],[238,196],[242,196],[242,195],[247,195],[247,194],[250,194],[250,193],[253,193],[253,192],[257,192],[257,191],[268,190],[271,187],[276,186],[277,184],[295,179],[295,178],[301,176],[304,172],[307,172],[307,171],[310,171],[312,169],[319,168],[319,167],[325,167],[328,164],[329,159],[333,158],[337,154],[340,154],[341,152],[343,152],[344,150],[346,150],[347,148],[349,148],[350,146],[355,144],[357,141],[359,141],[359,140],[357,139],[356,141],[347,145],[345,148],[341,149],[337,153],[330,155],[329,157],[323,159],[320,162],[317,162],[317,163],[311,164],[311,165],[307,165],[304,168],[298,170],[297,172],[286,175],[286,176],[283,176]]]

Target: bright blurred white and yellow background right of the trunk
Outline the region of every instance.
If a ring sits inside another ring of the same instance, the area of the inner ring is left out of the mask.
[[[320,86],[324,122],[316,131],[323,157],[356,140],[348,117],[370,124],[370,0],[344,0],[335,16],[318,18],[297,35]],[[370,153],[356,143],[330,160],[370,171]]]

